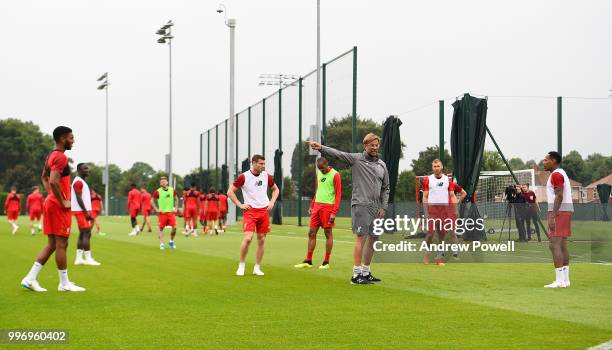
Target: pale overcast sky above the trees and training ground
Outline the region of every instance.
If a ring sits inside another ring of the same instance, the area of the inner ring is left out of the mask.
[[[401,167],[437,143],[439,99],[446,100],[450,138],[451,103],[465,92],[551,97],[489,98],[489,127],[509,157],[523,159],[556,148],[552,97],[603,97],[564,99],[564,150],[612,153],[612,99],[605,99],[612,88],[611,1],[321,2],[322,59],[358,46],[358,113],[380,121],[400,114],[407,146]],[[104,94],[96,78],[109,71],[111,161],[163,168],[168,49],[155,31],[172,19],[174,166],[185,174],[199,165],[199,134],[228,114],[228,29],[217,4],[2,1],[0,118],[31,120],[47,133],[71,126],[71,157],[101,164]],[[236,111],[271,92],[257,85],[260,73],[304,74],[316,66],[315,0],[225,4],[238,22]],[[346,87],[329,103],[348,106]]]

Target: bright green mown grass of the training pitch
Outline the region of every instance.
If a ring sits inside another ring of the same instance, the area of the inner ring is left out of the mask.
[[[553,278],[550,262],[381,263],[373,271],[382,284],[352,286],[353,236],[342,219],[330,270],[294,269],[306,228],[284,225],[268,237],[266,276],[240,278],[240,226],[217,237],[179,235],[177,250],[160,252],[150,233],[128,237],[128,222],[102,220],[108,235],[93,239],[99,267],[72,265],[73,234],[69,274],[87,292],[57,292],[50,260],[39,275],[49,292],[32,293],[19,282],[46,238],[31,237],[23,219],[12,236],[2,217],[0,329],[67,329],[67,346],[34,347],[79,349],[585,349],[612,339],[609,265],[573,264],[564,290],[542,288]],[[320,239],[317,263],[323,250]]]

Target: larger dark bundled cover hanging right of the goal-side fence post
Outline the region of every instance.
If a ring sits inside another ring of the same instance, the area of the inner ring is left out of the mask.
[[[478,185],[478,176],[484,153],[487,127],[487,100],[476,98],[469,94],[453,103],[453,124],[451,129],[451,154],[453,157],[453,176],[463,187],[467,196],[466,204],[461,204],[460,217],[480,219],[476,203],[473,202],[474,192]],[[465,208],[467,207],[467,213]],[[465,227],[465,240],[477,241],[486,239],[484,229],[478,225]]]

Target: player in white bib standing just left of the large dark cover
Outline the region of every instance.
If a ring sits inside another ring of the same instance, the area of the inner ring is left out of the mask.
[[[442,173],[444,166],[442,161],[434,159],[431,162],[433,174],[423,180],[423,207],[425,217],[427,217],[427,234],[425,241],[431,245],[434,232],[438,233],[438,241],[444,241],[446,227],[454,229],[454,219],[456,215],[457,197],[455,197],[454,182]],[[456,237],[455,237],[456,240]],[[453,252],[455,254],[455,252]],[[430,253],[426,252],[423,262],[429,264]],[[438,252],[436,255],[436,265],[444,266],[444,254]]]

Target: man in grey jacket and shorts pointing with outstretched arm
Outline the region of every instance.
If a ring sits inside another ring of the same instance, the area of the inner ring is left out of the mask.
[[[367,134],[363,139],[363,153],[346,153],[314,141],[306,143],[324,157],[339,159],[351,167],[351,219],[353,233],[356,235],[351,283],[380,282],[370,272],[374,243],[378,240],[374,234],[374,220],[385,217],[389,201],[389,172],[385,162],[378,157],[380,138],[372,133]]]

